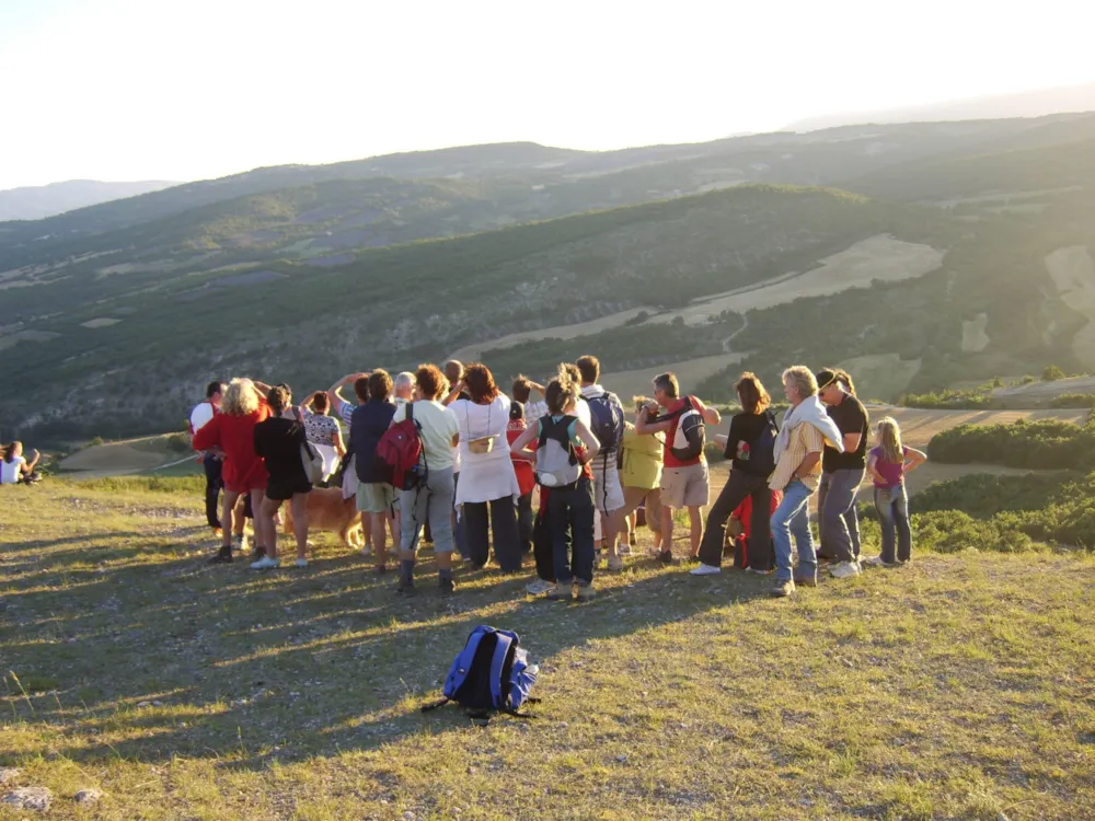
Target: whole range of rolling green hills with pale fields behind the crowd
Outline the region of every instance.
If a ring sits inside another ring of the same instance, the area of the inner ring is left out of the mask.
[[[2,223],[0,350],[19,390],[0,418],[119,438],[175,427],[215,377],[299,392],[459,350],[500,378],[583,352],[616,371],[737,358],[694,386],[715,398],[742,368],[773,379],[797,360],[854,362],[883,398],[1095,369],[1093,139],[1095,116],[1069,115],[604,154],[473,147]]]

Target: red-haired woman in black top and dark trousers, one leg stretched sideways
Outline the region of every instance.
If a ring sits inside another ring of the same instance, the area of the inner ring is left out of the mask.
[[[757,544],[753,555],[756,567],[768,570],[774,564],[771,555],[763,555],[764,545],[771,542],[769,522],[772,517],[772,490],[768,486],[768,477],[775,467],[772,454],[777,431],[775,417],[769,410],[772,397],[761,381],[749,372],[741,374],[734,390],[737,392],[741,413],[735,414],[730,419],[728,436],[715,437],[716,441],[723,440],[721,443],[726,449],[726,458],[731,460],[730,475],[707,512],[703,542],[700,544],[700,565],[692,570],[693,576],[710,576],[719,571],[726,522],[747,498],[752,499],[751,531]]]

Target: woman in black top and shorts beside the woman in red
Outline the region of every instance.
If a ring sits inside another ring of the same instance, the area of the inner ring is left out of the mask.
[[[274,517],[283,501],[292,506],[292,532],[297,539],[297,567],[308,567],[308,494],[312,483],[304,473],[301,448],[308,441],[304,417],[292,407],[288,385],[276,385],[266,394],[270,417],[255,425],[255,453],[266,463],[269,476],[266,497],[260,508],[266,555],[252,563],[252,570],[270,570],[281,566],[277,557],[277,527]]]

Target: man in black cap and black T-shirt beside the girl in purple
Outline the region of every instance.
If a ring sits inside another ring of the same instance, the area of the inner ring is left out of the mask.
[[[840,430],[844,452],[826,444],[821,454],[821,483],[818,487],[818,530],[821,544],[818,558],[835,562],[830,573],[838,579],[860,574],[860,520],[855,494],[866,471],[867,409],[855,395],[846,371],[822,368],[817,373],[818,396]]]

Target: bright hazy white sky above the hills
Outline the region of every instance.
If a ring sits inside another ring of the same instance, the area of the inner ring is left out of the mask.
[[[0,188],[607,149],[1095,80],[1091,0],[0,0]]]

